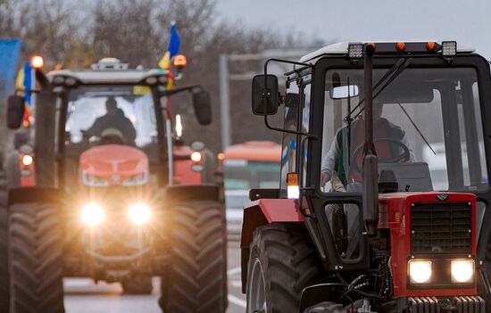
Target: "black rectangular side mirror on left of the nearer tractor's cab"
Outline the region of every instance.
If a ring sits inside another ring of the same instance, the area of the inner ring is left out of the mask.
[[[267,88],[264,86],[267,83]],[[255,115],[273,115],[279,105],[278,78],[274,75],[256,75],[253,78],[253,113]],[[266,110],[266,111],[264,111]]]

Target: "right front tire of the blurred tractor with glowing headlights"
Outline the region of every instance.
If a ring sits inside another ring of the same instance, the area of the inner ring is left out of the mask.
[[[227,227],[220,202],[189,201],[168,212],[171,266],[162,277],[159,304],[165,313],[225,312]]]

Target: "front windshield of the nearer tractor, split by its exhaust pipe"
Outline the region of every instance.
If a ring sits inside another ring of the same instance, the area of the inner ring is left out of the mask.
[[[406,69],[378,92],[387,70],[373,70],[379,172],[392,170],[399,190],[487,188],[477,71]],[[324,105],[320,187],[359,192],[363,70],[328,70]]]

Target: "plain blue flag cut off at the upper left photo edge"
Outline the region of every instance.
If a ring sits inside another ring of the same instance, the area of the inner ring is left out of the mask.
[[[20,53],[21,39],[0,39],[0,100],[12,93]]]

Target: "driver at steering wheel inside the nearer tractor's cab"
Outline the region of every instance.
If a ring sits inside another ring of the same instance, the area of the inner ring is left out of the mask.
[[[382,118],[384,104],[373,103],[373,140],[379,161],[391,162],[400,159],[400,161],[415,161],[412,146],[402,128]],[[337,182],[341,182],[346,187],[346,191],[360,191],[362,183],[362,146],[365,142],[365,121],[363,114],[351,123],[350,137],[351,142],[349,152],[349,162],[347,154],[347,135],[348,126],[337,131],[337,135],[332,142],[329,152],[322,159],[320,171],[320,186],[324,187],[331,178],[338,177]],[[402,146],[409,151],[409,160],[402,158],[404,152]],[[405,159],[405,160],[404,160]],[[334,174],[334,175],[333,175]],[[336,179],[337,180],[337,179]],[[333,187],[336,183],[331,181]]]

